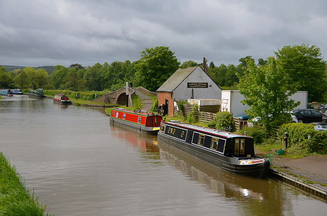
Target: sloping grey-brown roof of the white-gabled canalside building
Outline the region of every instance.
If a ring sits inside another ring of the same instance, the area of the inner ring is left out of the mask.
[[[199,66],[197,66],[199,67]],[[197,67],[178,69],[171,75],[164,84],[162,84],[156,92],[173,92]],[[202,68],[200,68],[202,70]]]

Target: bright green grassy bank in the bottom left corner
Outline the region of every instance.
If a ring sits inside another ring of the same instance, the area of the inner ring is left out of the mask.
[[[25,184],[15,167],[0,152],[0,215],[51,215],[45,212]]]

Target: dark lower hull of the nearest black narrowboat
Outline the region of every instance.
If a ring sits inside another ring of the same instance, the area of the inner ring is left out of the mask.
[[[218,167],[223,171],[242,176],[263,178],[266,176],[268,167],[270,165],[269,161],[265,161],[264,164],[253,164],[247,166],[238,165],[238,158],[226,157],[222,154],[201,148],[200,146],[165,136],[160,132],[158,133],[158,142],[160,144],[167,145],[168,148],[174,148],[183,151],[184,153],[194,156],[210,165]]]

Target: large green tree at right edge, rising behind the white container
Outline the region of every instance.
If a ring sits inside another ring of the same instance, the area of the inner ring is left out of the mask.
[[[292,79],[292,86],[298,91],[308,91],[309,101],[323,100],[327,90],[326,62],[322,60],[320,48],[309,44],[284,46],[275,55]]]

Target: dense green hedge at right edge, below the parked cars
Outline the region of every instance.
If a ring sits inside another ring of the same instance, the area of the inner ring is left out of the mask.
[[[288,153],[309,155],[327,152],[327,131],[317,131],[312,124],[290,123],[279,128],[279,139],[283,140],[285,132],[288,133]]]

